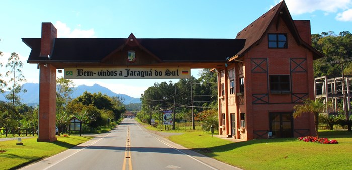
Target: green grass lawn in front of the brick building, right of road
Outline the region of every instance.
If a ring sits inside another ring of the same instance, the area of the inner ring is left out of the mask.
[[[321,131],[319,135],[336,139],[339,143],[307,143],[296,138],[233,143],[200,131],[170,136],[169,139],[243,169],[350,169],[352,132]]]

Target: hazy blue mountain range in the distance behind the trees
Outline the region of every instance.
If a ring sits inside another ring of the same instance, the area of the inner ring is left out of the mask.
[[[39,84],[38,83],[25,83],[23,84],[23,88],[27,90],[26,93],[20,94],[21,102],[25,103],[29,106],[36,106],[39,103]],[[85,91],[90,93],[98,93],[106,94],[110,97],[118,96],[124,98],[123,104],[129,103],[140,103],[140,98],[133,98],[125,94],[117,94],[111,91],[110,89],[100,86],[99,84],[94,84],[93,86],[80,85],[75,87],[73,93],[71,94],[72,99],[77,98],[82,95]],[[5,92],[0,95],[0,101],[6,101],[5,95],[9,92]]]

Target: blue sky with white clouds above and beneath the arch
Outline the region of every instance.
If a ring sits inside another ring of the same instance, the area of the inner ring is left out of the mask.
[[[30,48],[21,38],[40,38],[41,23],[51,22],[59,38],[235,38],[277,0],[150,0],[150,1],[10,1],[0,2],[0,61],[12,52],[24,62],[27,82],[39,83],[36,64],[28,64]],[[294,20],[310,20],[312,34],[351,31],[352,0],[287,0]],[[4,77],[5,68],[0,68]],[[199,70],[191,73],[198,77]],[[58,73],[58,76],[63,76]],[[169,80],[73,80],[94,83],[116,93],[140,97],[155,82]],[[172,82],[177,82],[177,79]]]

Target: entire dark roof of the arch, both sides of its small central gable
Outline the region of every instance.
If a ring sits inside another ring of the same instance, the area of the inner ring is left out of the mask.
[[[32,48],[31,61],[89,61],[100,62],[117,49],[123,48],[127,38],[55,38],[50,60],[40,57],[40,38],[23,38]],[[136,39],[141,48],[161,61],[226,61],[244,46],[242,39]]]

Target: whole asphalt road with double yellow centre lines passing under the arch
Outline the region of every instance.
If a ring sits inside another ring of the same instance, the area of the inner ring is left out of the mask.
[[[237,169],[149,133],[134,119],[22,169]]]

